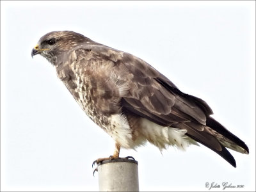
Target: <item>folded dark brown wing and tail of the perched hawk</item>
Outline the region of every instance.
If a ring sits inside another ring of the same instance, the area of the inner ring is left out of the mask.
[[[76,60],[90,68],[86,71],[87,77],[93,77],[93,72],[98,70],[94,79],[97,80],[96,74],[100,75],[100,88],[105,94],[109,93],[109,97],[105,95],[106,100],[115,96],[111,113],[118,110],[114,108],[118,105],[124,114],[147,118],[165,127],[186,129],[190,138],[211,148],[233,166],[236,161],[225,147],[248,153],[243,141],[209,117],[212,109],[204,100],[180,92],[175,84],[145,61],[104,45],[89,48],[80,50]]]

